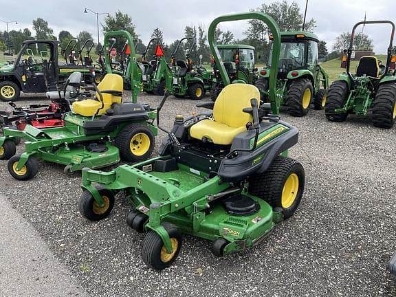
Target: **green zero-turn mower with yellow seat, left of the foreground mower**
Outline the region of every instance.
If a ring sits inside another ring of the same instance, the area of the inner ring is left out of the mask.
[[[104,36],[107,47],[110,36],[123,36],[133,45],[126,31],[109,32]],[[153,126],[157,111],[148,104],[137,103],[140,76],[137,76],[135,52],[131,46],[129,76],[132,86],[132,103],[122,102],[122,77],[112,74],[109,56],[105,56],[107,74],[94,89],[95,99],[72,103],[72,112],[65,113],[65,126],[37,129],[26,125],[24,131],[4,128],[0,137],[0,159],[9,159],[8,170],[20,180],[36,175],[37,159],[66,165],[65,173],[84,167],[100,168],[124,159],[136,162],[146,159],[154,148],[157,128]],[[25,140],[25,153],[16,153],[14,141]]]

